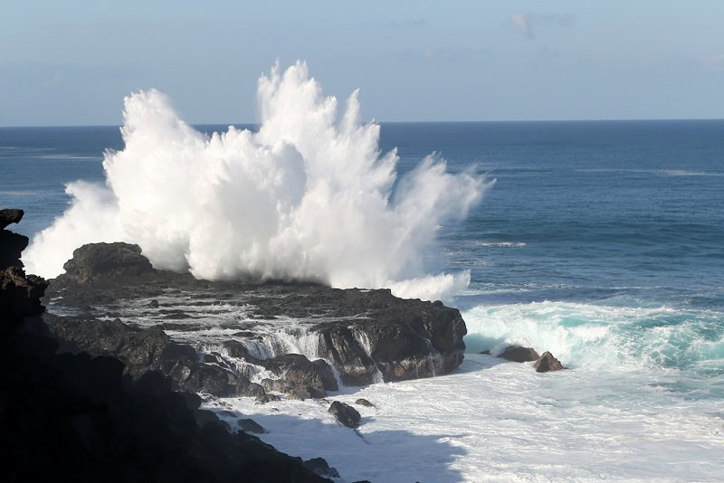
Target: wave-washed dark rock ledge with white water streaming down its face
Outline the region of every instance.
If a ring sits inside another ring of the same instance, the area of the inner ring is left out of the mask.
[[[119,317],[131,332],[162,329],[169,338],[161,345],[191,347],[197,359],[213,352],[206,364],[219,367],[236,388],[252,380],[267,391],[324,397],[337,387],[324,361],[343,384],[361,385],[448,373],[462,363],[465,350],[466,328],[457,309],[395,298],[386,289],[196,280],[151,268],[138,246],[126,243],[85,245],[65,270],[48,289],[52,312],[89,321]],[[65,330],[62,319],[49,324],[58,333]],[[88,331],[78,327],[66,336],[81,349],[127,356],[112,341],[99,347],[98,335],[91,334],[97,329]],[[179,358],[182,366],[176,367],[170,359],[147,360],[149,368],[166,368],[165,374],[191,389],[186,381],[198,370],[191,355]],[[143,367],[140,359],[126,362],[129,370]],[[278,379],[262,381],[256,377],[262,370]]]

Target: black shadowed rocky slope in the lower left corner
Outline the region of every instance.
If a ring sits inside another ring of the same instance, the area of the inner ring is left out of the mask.
[[[0,211],[0,224],[7,219]],[[226,431],[199,410],[199,396],[173,392],[162,374],[134,378],[113,357],[58,354],[35,317],[44,281],[13,261],[0,266],[1,481],[329,481],[252,435]],[[86,336],[99,350],[122,352],[138,337],[129,360],[163,360],[167,338],[158,334],[124,334],[115,322],[94,330],[111,335]]]

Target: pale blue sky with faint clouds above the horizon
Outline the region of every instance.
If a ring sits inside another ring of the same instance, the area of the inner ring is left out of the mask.
[[[0,126],[119,125],[156,88],[192,124],[258,120],[302,60],[377,121],[724,118],[721,0],[4,0]]]

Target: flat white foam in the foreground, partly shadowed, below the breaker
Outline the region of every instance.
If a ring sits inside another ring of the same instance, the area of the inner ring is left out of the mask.
[[[724,413],[717,401],[669,391],[674,377],[537,374],[467,355],[455,374],[330,396],[376,404],[355,406],[363,416],[357,432],[333,421],[320,401],[207,406],[251,417],[269,431],[262,440],[305,459],[324,457],[344,481],[720,481]]]

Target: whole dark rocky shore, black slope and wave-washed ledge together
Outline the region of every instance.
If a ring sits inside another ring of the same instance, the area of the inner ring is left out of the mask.
[[[249,434],[264,431],[254,421],[240,417],[233,427],[200,409],[197,394],[329,404],[340,384],[429,377],[462,364],[457,309],[385,289],[196,280],[155,270],[127,243],[79,248],[57,279],[26,275],[28,240],[5,230],[22,216],[0,210],[3,356],[17,369],[2,381],[3,439],[16,441],[15,464],[3,470],[9,481],[338,478],[323,459],[262,443]],[[329,412],[349,428],[359,424],[348,404],[333,401]],[[133,441],[144,441],[143,451]],[[34,459],[51,463],[33,468]]]

